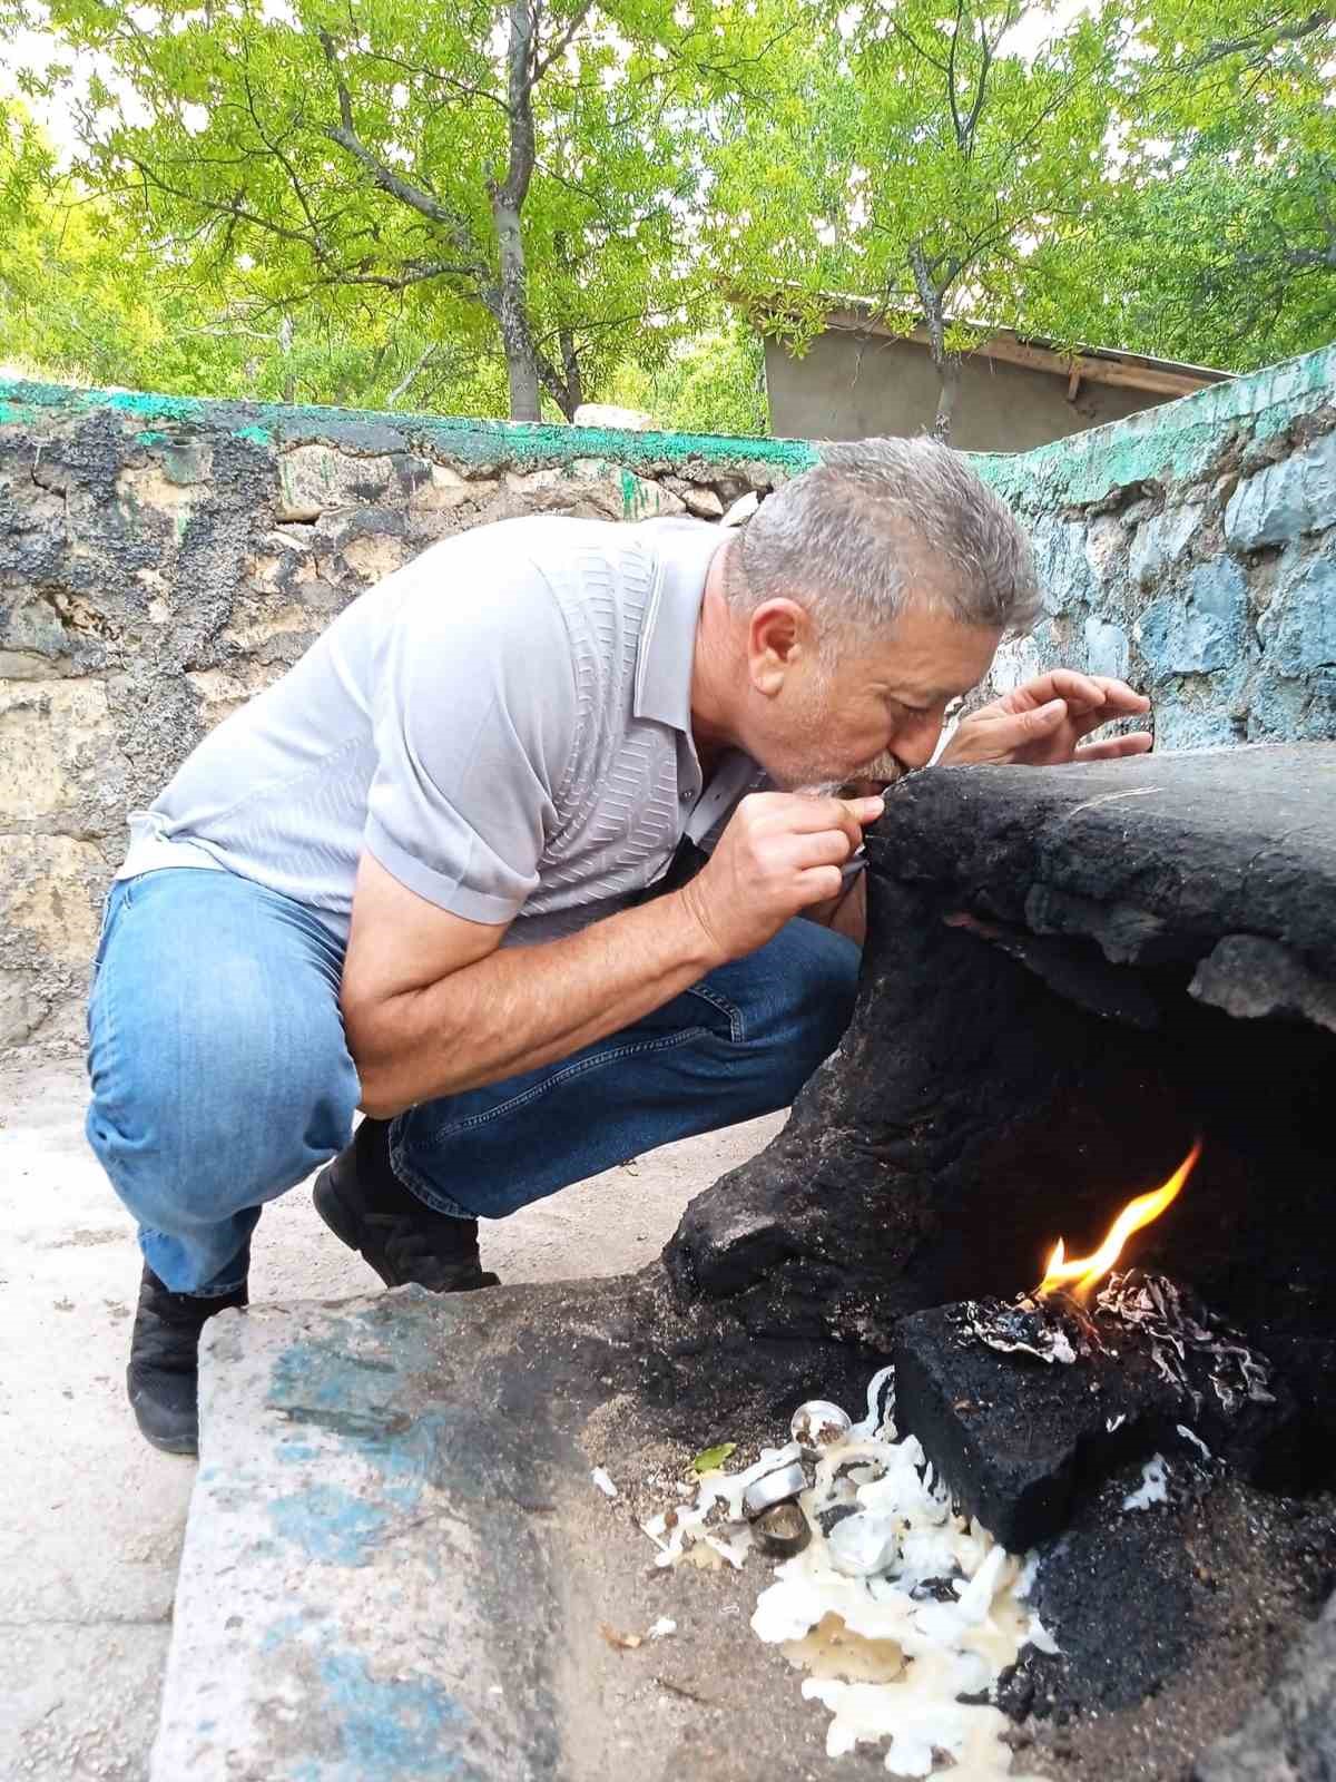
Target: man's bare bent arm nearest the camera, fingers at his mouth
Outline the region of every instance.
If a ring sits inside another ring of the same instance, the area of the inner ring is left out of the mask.
[[[390,1117],[570,1057],[762,946],[841,887],[880,798],[745,798],[709,864],[652,903],[540,946],[438,909],[363,854],[342,1009],[365,1112]]]

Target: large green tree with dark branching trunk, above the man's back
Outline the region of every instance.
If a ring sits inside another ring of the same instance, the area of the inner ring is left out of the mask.
[[[663,353],[689,324],[686,119],[761,53],[757,18],[723,43],[705,0],[46,14],[116,75],[75,102],[75,171],[159,255],[219,298],[240,285],[249,326],[371,298],[424,351],[499,346],[527,421],[540,392],[570,415],[634,344]]]

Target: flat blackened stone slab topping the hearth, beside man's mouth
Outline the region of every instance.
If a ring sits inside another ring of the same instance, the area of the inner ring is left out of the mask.
[[[1336,743],[933,770],[894,793],[868,852],[1014,928],[1094,939],[1119,964],[1215,955],[1197,994],[1236,996],[1240,1014],[1268,1012],[1272,973],[1275,1012],[1332,1025]]]

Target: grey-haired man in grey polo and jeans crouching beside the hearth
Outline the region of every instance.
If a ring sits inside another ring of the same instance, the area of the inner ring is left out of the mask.
[[[144,1436],[194,1451],[200,1329],[321,1165],[321,1217],[387,1285],[460,1292],[495,1283],[479,1219],[786,1107],[851,1010],[880,789],[1035,609],[965,462],[866,440],[736,535],[438,544],[207,736],[132,818],[89,1010]],[[1144,709],[1060,670],[944,759],[1067,761]]]

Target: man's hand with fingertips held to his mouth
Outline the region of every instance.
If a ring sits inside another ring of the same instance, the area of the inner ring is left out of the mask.
[[[862,843],[864,825],[884,811],[882,798],[752,793],[679,896],[720,959],[743,959],[791,916],[839,896],[841,866]]]

